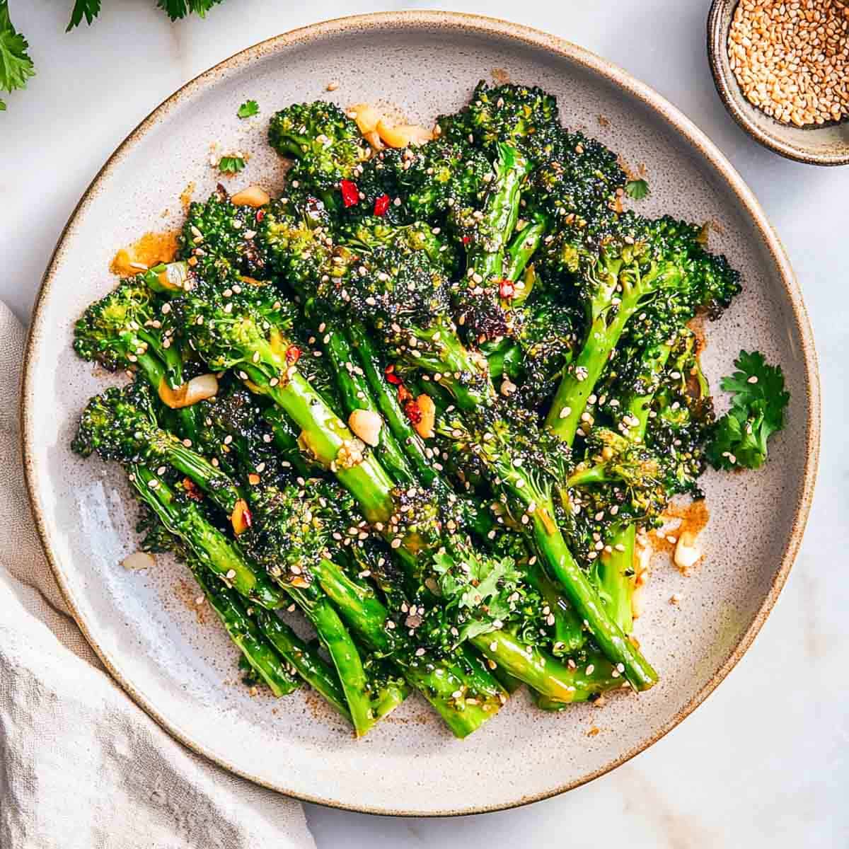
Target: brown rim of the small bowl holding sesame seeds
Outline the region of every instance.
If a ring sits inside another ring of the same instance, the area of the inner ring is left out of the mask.
[[[728,114],[757,143],[784,156],[785,159],[802,162],[805,165],[849,165],[849,142],[846,143],[846,151],[842,153],[807,153],[796,147],[795,144],[784,142],[778,136],[765,132],[739,108],[732,95],[732,90],[739,88],[737,80],[734,78],[734,74],[729,76],[724,65],[722,65],[722,54],[728,40],[728,31],[722,26],[722,11],[729,5],[735,7],[738,3],[739,0],[713,0],[711,10],[707,14],[707,59],[711,65],[713,84],[717,87],[719,99],[722,100],[722,105],[728,110]],[[815,131],[812,130],[812,132]]]

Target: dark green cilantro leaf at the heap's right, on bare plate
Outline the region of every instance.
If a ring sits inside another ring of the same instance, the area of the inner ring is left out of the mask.
[[[769,365],[760,351],[740,351],[734,365],[739,370],[720,382],[734,398],[714,427],[707,458],[715,469],[760,469],[769,437],[784,428],[790,393],[781,367]]]

